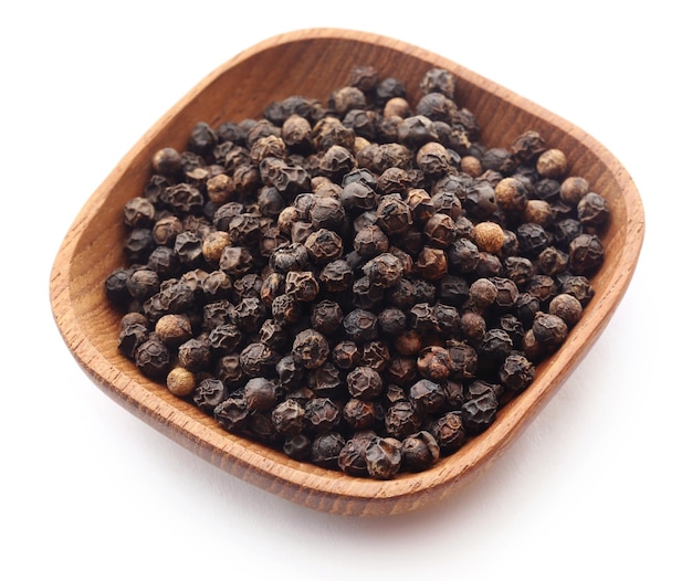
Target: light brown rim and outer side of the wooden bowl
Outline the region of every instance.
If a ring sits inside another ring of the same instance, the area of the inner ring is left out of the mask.
[[[439,66],[461,74],[468,82],[480,85],[485,92],[500,96],[512,106],[531,108],[534,115],[548,119],[562,131],[578,131],[579,140],[594,150],[604,163],[614,169],[620,191],[627,204],[627,240],[623,247],[621,276],[612,281],[598,297],[598,309],[594,309],[580,321],[577,350],[560,350],[551,357],[551,365],[544,366],[539,384],[532,384],[499,414],[492,425],[493,437],[478,436],[469,441],[462,451],[445,457],[432,468],[422,473],[403,474],[391,480],[357,478],[312,464],[292,461],[262,444],[250,442],[241,436],[223,433],[197,414],[184,413],[162,392],[153,392],[150,385],[143,387],[145,380],[136,381],[128,377],[88,340],[81,320],[74,310],[72,289],[72,264],[80,260],[77,243],[87,224],[107,203],[108,192],[127,171],[129,162],[145,149],[171,118],[184,109],[191,99],[202,94],[214,80],[229,68],[269,50],[302,41],[328,41],[338,39],[349,42],[368,43],[376,47],[387,46],[407,56],[426,59]],[[129,152],[114,168],[112,173],[88,198],[78,212],[55,257],[51,281],[50,299],[59,330],[80,367],[112,399],[132,413],[171,437],[188,450],[219,466],[224,472],[274,493],[283,498],[297,501],[317,510],[344,515],[387,515],[411,510],[441,499],[455,490],[462,482],[469,482],[486,469],[502,451],[526,427],[535,414],[547,403],[565,381],[572,370],[581,361],[596,339],[600,336],[619,305],[639,257],[643,243],[644,216],[637,188],[629,173],[619,161],[596,139],[559,116],[544,109],[510,89],[497,85],[451,60],[420,49],[407,42],[377,33],[335,28],[312,28],[271,36],[251,46],[203,77],[191,91],[178,101],[158,122],[133,146]],[[65,268],[67,265],[67,268]],[[515,403],[521,402],[521,404]]]

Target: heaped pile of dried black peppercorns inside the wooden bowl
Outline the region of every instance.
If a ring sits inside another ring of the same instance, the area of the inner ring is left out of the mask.
[[[480,142],[443,68],[192,127],[124,209],[118,348],[227,431],[353,476],[483,432],[594,296],[606,200],[534,130]]]

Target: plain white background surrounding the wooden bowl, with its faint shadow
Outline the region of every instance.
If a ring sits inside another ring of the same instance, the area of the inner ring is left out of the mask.
[[[684,4],[238,6],[0,9],[0,578],[692,579]],[[122,156],[222,62],[308,27],[417,44],[569,119],[647,214],[629,290],[558,394],[481,479],[391,518],[311,511],[169,442],[91,383],[50,309],[60,242]]]

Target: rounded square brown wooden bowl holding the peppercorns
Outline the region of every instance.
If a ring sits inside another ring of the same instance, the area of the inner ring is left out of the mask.
[[[231,435],[195,406],[145,379],[118,352],[119,315],[104,296],[104,281],[124,264],[123,205],[141,192],[153,152],[185,149],[192,125],[256,118],[266,104],[300,94],[326,102],[355,65],[370,64],[381,76],[407,84],[415,103],[418,82],[430,67],[459,78],[457,101],[472,110],[481,140],[508,147],[527,129],[570,160],[570,173],[585,177],[611,209],[604,235],[606,261],[593,278],[594,300],[563,348],[537,368],[533,384],[499,413],[494,424],[459,452],[420,474],[392,480],[356,478],[294,462],[265,446]],[[618,160],[589,135],[444,57],[375,34],[316,29],[271,38],[234,56],[195,86],[144,135],[92,194],[55,258],[51,304],[69,349],[87,376],[132,413],[186,448],[280,497],[342,515],[408,511],[455,493],[480,474],[522,432],[584,358],[611,318],[633,274],[644,231],[638,191]]]

